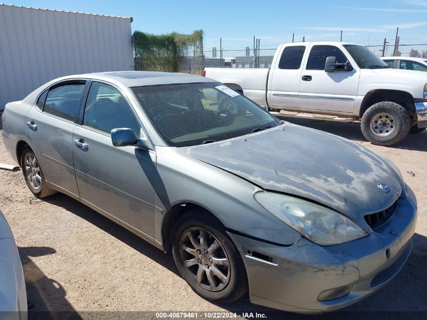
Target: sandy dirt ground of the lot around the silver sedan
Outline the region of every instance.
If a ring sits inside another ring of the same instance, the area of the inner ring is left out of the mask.
[[[373,311],[427,312],[427,131],[410,134],[404,142],[386,148],[365,142],[357,124],[289,120],[344,136],[386,155],[398,165],[418,199],[413,251],[395,280],[343,311],[316,318],[344,319],[353,311],[369,311],[364,317],[375,319],[383,313]],[[0,162],[13,164],[2,139]],[[21,256],[33,312],[30,319],[35,311],[78,311],[85,318],[93,317],[95,311],[231,311],[265,313],[269,319],[307,318],[253,305],[248,297],[228,305],[212,304],[178,276],[171,254],[65,195],[30,204],[32,194],[21,171],[0,171],[0,177],[0,209]]]

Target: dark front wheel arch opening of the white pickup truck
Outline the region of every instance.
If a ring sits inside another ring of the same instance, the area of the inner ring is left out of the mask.
[[[378,102],[395,102],[411,113],[415,112],[413,96],[403,90],[374,89],[370,90],[363,98],[359,116],[362,117],[366,110]]]

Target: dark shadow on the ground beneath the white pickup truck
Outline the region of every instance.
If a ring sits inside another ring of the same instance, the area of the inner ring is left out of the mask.
[[[282,116],[280,116],[279,118],[281,120],[286,120],[291,123],[295,123],[305,127],[336,134],[346,139],[354,141],[366,141],[365,137],[362,134],[362,131],[360,130],[360,123],[343,123],[323,120],[298,119]],[[426,141],[427,130],[416,134],[409,133],[408,136],[402,142],[390,146],[388,148],[427,152],[427,143],[425,143]]]

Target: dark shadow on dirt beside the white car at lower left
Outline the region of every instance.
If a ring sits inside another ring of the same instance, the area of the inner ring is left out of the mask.
[[[24,271],[28,318],[80,320],[81,317],[65,298],[64,287],[56,280],[46,277],[43,271],[31,260],[31,257],[54,254],[56,253],[55,249],[50,247],[18,247],[18,252]],[[62,311],[56,312],[56,309]]]

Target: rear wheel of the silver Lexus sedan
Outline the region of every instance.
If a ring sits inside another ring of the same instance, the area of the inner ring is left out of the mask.
[[[25,182],[34,196],[45,198],[57,193],[56,190],[46,187],[43,170],[34,152],[28,146],[21,152],[21,168]]]

